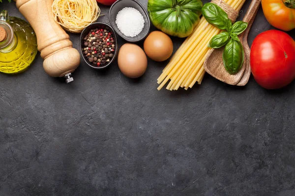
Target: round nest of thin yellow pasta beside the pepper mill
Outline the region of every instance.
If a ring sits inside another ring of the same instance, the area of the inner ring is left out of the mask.
[[[71,33],[81,33],[100,15],[96,0],[54,0],[52,12],[54,20]]]

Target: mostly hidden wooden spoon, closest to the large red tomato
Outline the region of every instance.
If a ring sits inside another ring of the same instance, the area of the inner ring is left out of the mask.
[[[247,61],[247,62],[246,63],[244,62],[246,68],[245,68],[245,71],[244,71],[244,74],[243,74],[242,78],[236,84],[237,86],[245,86],[248,83],[249,78],[250,78],[250,75],[251,75],[250,48],[249,48],[249,44],[248,44],[248,35],[249,35],[249,32],[250,32],[251,27],[253,25],[253,22],[254,22],[254,19],[255,19],[256,14],[257,14],[257,11],[258,11],[260,2],[261,2],[261,0],[256,0],[255,3],[253,3],[253,6],[256,8],[255,10],[253,10],[254,17],[248,23],[248,27],[247,27],[247,29],[244,32],[244,37],[243,37],[242,44],[243,44],[243,47],[244,47],[244,50],[245,50],[245,61]],[[251,3],[251,5],[252,5],[252,3]]]

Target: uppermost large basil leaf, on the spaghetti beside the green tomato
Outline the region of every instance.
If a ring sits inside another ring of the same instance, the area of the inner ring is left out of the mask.
[[[202,14],[209,24],[222,30],[226,29],[228,15],[215,3],[205,3]]]

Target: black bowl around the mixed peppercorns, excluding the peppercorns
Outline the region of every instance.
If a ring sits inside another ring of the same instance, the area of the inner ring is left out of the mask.
[[[113,34],[113,39],[115,40],[115,53],[114,53],[114,56],[113,56],[113,58],[110,60],[110,62],[109,63],[107,63],[107,64],[105,64],[104,66],[100,66],[100,67],[97,67],[97,66],[95,66],[94,64],[92,64],[92,63],[90,63],[88,60],[87,60],[87,58],[85,57],[85,54],[84,54],[84,48],[85,48],[85,46],[84,46],[84,38],[87,36],[87,34],[89,34],[89,31],[91,30],[91,29],[94,29],[94,28],[106,28],[106,29],[108,29],[109,31],[111,31],[112,32],[112,34]],[[109,67],[109,65],[111,65],[114,61],[115,61],[115,59],[116,59],[116,57],[117,57],[117,54],[118,54],[118,40],[117,40],[117,36],[116,36],[116,33],[115,33],[115,31],[114,31],[114,29],[112,28],[112,26],[110,26],[110,25],[108,25],[108,24],[106,24],[106,23],[92,23],[91,25],[89,25],[89,26],[87,26],[83,31],[82,31],[82,33],[81,33],[81,37],[80,37],[80,50],[81,50],[81,53],[82,53],[82,56],[83,56],[83,59],[84,59],[84,61],[91,67],[91,68],[93,68],[93,69],[97,69],[97,70],[99,70],[99,69],[104,69],[104,68],[107,68],[107,67]]]

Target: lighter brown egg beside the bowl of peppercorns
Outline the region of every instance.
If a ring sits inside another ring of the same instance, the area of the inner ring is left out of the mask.
[[[148,59],[143,49],[135,44],[124,44],[118,54],[120,71],[130,78],[142,76],[148,67]]]

